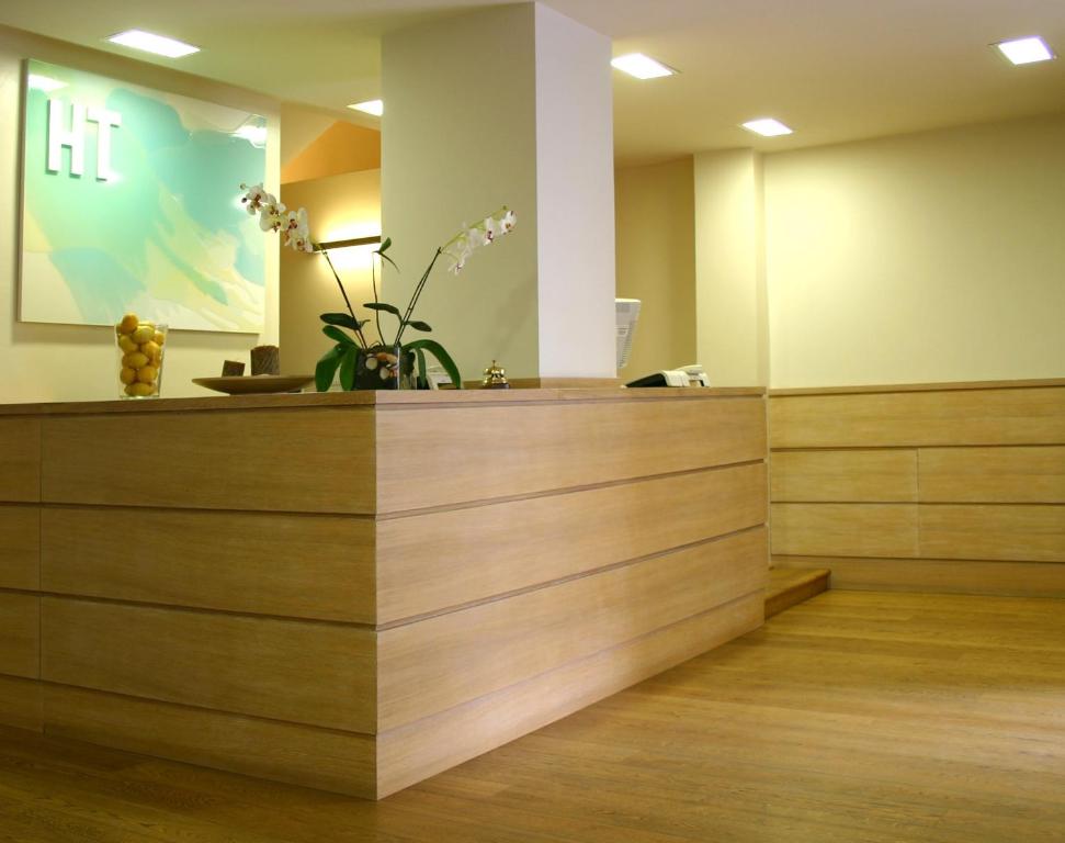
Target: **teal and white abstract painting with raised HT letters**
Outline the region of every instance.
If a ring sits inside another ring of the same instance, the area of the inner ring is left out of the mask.
[[[263,117],[26,63],[23,322],[261,333]]]

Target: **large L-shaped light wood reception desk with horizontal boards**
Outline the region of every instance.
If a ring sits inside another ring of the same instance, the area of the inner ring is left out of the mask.
[[[0,407],[0,722],[379,798],[762,622],[757,390]]]

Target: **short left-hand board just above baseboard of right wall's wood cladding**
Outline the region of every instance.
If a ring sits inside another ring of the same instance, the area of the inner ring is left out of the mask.
[[[916,504],[773,504],[774,555],[914,558]]]

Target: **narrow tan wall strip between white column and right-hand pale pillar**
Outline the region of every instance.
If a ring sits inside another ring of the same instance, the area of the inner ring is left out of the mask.
[[[615,173],[618,295],[643,302],[623,380],[696,362],[692,179],[691,158]]]

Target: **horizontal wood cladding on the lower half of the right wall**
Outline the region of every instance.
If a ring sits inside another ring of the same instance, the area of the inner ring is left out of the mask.
[[[843,588],[1061,594],[1065,383],[772,395],[769,415],[775,564]]]

